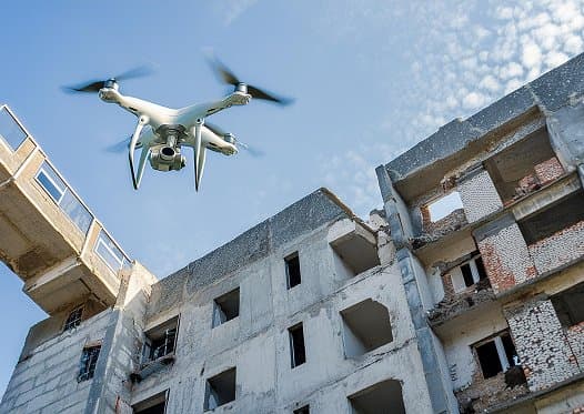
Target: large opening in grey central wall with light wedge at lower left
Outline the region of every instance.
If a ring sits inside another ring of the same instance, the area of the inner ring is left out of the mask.
[[[387,307],[367,299],[341,311],[346,357],[371,352],[393,341]]]

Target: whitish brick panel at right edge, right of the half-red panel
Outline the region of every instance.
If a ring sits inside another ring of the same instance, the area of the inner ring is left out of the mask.
[[[528,246],[537,272],[544,273],[584,255],[584,221]]]

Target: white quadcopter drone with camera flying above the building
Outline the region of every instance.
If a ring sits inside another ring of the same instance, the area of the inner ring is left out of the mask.
[[[261,99],[280,105],[286,105],[292,100],[276,97],[259,88],[242,82],[217,59],[210,63],[218,77],[226,84],[234,87],[233,92],[221,100],[195,103],[180,109],[171,109],[139,98],[124,95],[120,92],[119,82],[150,74],[149,67],[139,67],[107,80],[84,82],[77,87],[64,87],[71,93],[98,93],[108,103],[117,103],[138,118],[138,124],[128,143],[129,163],[134,190],[140,188],[147,160],[152,169],[158,171],[178,171],[187,165],[182,147],[190,147],[194,154],[194,188],[203,176],[207,150],[223,155],[238,153],[238,144],[248,149],[235,135],[224,132],[221,128],[205,121],[207,117],[233,105],[245,105],[251,99]],[[138,169],[134,163],[134,152],[142,150]]]

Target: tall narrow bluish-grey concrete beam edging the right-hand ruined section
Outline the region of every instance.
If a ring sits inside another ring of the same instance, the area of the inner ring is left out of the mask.
[[[426,314],[422,302],[420,283],[425,282],[425,274],[417,274],[414,265],[410,243],[407,241],[407,228],[410,218],[404,216],[407,210],[401,202],[399,194],[395,192],[391,178],[384,165],[375,169],[377,182],[383,198],[383,208],[387,216],[387,223],[391,230],[391,238],[395,244],[396,259],[402,273],[402,283],[405,290],[407,306],[412,316],[417,339],[417,349],[422,357],[424,376],[426,378],[432,410],[434,413],[457,413],[459,407],[452,392],[450,383],[444,381],[444,375],[440,367],[439,344],[434,341],[432,331],[427,325]],[[403,202],[402,202],[403,204]],[[400,213],[400,210],[403,213]]]

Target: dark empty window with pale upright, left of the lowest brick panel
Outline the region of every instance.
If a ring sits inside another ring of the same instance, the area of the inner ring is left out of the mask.
[[[520,364],[515,345],[509,332],[503,332],[477,343],[474,345],[474,350],[484,378],[495,376],[500,372],[505,372],[511,366]]]

